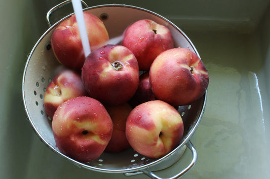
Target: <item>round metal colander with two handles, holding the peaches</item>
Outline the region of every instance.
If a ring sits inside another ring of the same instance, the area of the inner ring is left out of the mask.
[[[48,12],[47,20],[49,25],[50,14],[69,2],[70,1],[66,1],[59,4]],[[87,7],[86,4],[85,6]],[[191,51],[198,54],[195,46],[177,26],[151,11],[127,5],[101,5],[90,8],[87,7],[84,11],[100,17],[104,22],[110,37],[121,35],[131,23],[138,20],[150,19],[156,21],[170,29],[174,37],[175,47],[181,46],[189,48]],[[192,159],[188,166],[171,178],[182,176],[190,170],[197,161],[197,151],[189,139],[194,134],[201,121],[205,110],[207,92],[196,102],[179,107],[178,111],[180,112],[184,123],[184,135],[179,146],[162,158],[148,158],[137,153],[133,149],[129,149],[119,154],[103,153],[99,158],[91,162],[81,163],[69,158],[58,150],[53,137],[51,121],[45,113],[43,98],[46,87],[62,67],[53,54],[50,45],[51,35],[54,29],[70,16],[71,15],[52,25],[42,35],[31,50],[25,65],[22,80],[23,102],[27,113],[27,119],[36,135],[54,152],[80,167],[99,172],[124,173],[127,176],[144,173],[151,178],[160,178],[152,171],[164,169],[173,165],[179,160],[187,146],[192,152]]]

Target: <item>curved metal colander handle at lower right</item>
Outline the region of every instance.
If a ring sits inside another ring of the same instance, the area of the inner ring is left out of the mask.
[[[186,168],[184,168],[182,171],[180,171],[178,174],[172,176],[172,177],[169,177],[167,179],[176,179],[176,178],[179,178],[181,176],[183,176],[186,172],[188,172],[192,167],[194,167],[194,165],[196,164],[197,162],[197,158],[198,158],[198,155],[197,155],[197,150],[195,149],[194,145],[190,142],[190,140],[187,141],[187,143],[185,144],[192,152],[192,160],[191,162],[189,163],[189,165],[187,165]],[[154,174],[151,170],[149,170],[148,168],[146,169],[143,169],[141,171],[138,171],[136,173],[125,173],[126,176],[131,176],[131,175],[136,175],[136,174],[146,174],[147,176],[149,176],[150,178],[153,178],[153,179],[165,179],[165,178],[161,178],[159,176],[157,176],[156,174]]]

